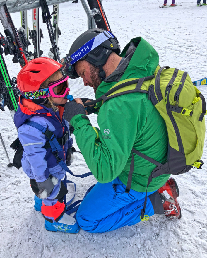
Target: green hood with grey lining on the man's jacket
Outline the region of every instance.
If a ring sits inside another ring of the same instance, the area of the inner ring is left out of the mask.
[[[157,51],[142,37],[131,39],[130,42],[124,47],[120,56],[125,58],[130,56],[131,52],[129,52],[128,49],[132,45],[134,45],[136,49],[133,51],[133,55],[130,57],[131,60],[129,61],[126,70],[124,72],[120,71],[121,78],[119,77],[119,81],[129,78],[142,78],[153,75],[159,64],[159,56]],[[114,75],[117,78],[117,70],[115,71]],[[108,77],[110,77],[110,82]],[[113,73],[108,77],[98,86],[96,91],[96,99],[110,90],[110,88],[117,82],[117,80],[112,80]]]

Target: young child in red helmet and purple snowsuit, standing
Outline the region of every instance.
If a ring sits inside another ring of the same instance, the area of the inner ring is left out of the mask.
[[[64,96],[68,94],[68,76],[61,74],[62,65],[47,57],[33,59],[17,76],[20,90],[19,106],[14,116],[18,137],[24,148],[22,168],[30,178],[35,193],[35,209],[42,211],[49,231],[78,233],[76,219],[65,213],[64,195],[68,192],[61,179],[66,171],[57,163],[48,137],[26,124],[33,121],[56,136],[62,151],[58,153],[71,165],[72,139],[69,124],[64,119]],[[49,136],[49,135],[48,135]],[[52,136],[49,136],[52,139]]]

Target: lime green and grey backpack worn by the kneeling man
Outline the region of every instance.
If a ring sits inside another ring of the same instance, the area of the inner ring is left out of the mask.
[[[157,67],[154,75],[144,78],[132,78],[119,81],[107,93],[95,102],[102,100],[102,104],[119,95],[131,92],[143,92],[148,94],[148,100],[159,111],[165,120],[168,134],[167,163],[161,164],[156,160],[132,149],[132,152],[157,165],[152,171],[148,185],[152,178],[163,174],[179,175],[188,172],[191,168],[201,168],[200,160],[203,153],[205,138],[206,102],[201,92],[193,85],[187,72],[164,66]],[[89,102],[88,105],[91,105]],[[130,171],[128,175],[126,192],[131,188],[132,174],[134,170],[134,156],[132,155]],[[146,207],[142,210],[142,219]]]

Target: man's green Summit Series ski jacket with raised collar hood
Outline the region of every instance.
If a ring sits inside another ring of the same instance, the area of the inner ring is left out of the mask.
[[[153,75],[159,56],[143,38],[132,39],[124,48],[126,55],[130,43],[136,50],[119,81]],[[96,99],[106,93],[118,81],[107,78],[97,88]],[[88,168],[100,183],[108,183],[116,177],[126,185],[131,157],[134,155],[134,172],[131,189],[146,192],[148,177],[156,165],[131,153],[132,148],[164,164],[167,162],[167,130],[165,122],[146,93],[129,93],[97,103],[98,125],[93,127],[82,115],[71,119],[75,128],[76,143],[85,158]],[[159,189],[170,175],[161,175],[152,180],[148,192]]]

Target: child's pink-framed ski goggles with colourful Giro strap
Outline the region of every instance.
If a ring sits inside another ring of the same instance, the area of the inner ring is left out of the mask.
[[[20,90],[20,93],[23,98],[30,100],[47,98],[50,96],[54,98],[62,98],[70,91],[68,78],[69,76],[65,75],[61,79],[49,83],[48,88],[26,92]]]

